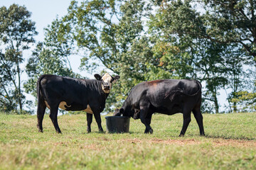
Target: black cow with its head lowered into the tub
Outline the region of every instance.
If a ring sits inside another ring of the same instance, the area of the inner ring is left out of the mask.
[[[183,127],[179,136],[183,136],[191,122],[191,111],[198,123],[200,135],[203,130],[201,114],[201,83],[196,80],[162,79],[146,81],[134,86],[124,101],[122,108],[114,115],[140,118],[146,126],[145,133],[153,133],[150,126],[153,113],[173,115],[183,113]]]

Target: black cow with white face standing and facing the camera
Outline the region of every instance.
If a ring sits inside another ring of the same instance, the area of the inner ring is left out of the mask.
[[[58,108],[65,111],[85,111],[87,113],[87,132],[91,132],[92,114],[95,116],[100,132],[103,131],[100,113],[105,108],[105,101],[110,94],[114,81],[119,76],[112,77],[106,73],[96,79],[73,79],[44,74],[37,82],[38,96],[38,130],[43,132],[43,115],[46,107],[50,109],[50,119],[56,132],[61,133],[58,126]]]

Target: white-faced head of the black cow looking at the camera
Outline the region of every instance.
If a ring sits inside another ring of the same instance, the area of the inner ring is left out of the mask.
[[[112,77],[108,73],[103,74],[102,77],[100,76],[100,74],[95,74],[94,76],[95,79],[102,81],[102,90],[105,94],[110,93],[112,84],[120,78],[119,76]]]

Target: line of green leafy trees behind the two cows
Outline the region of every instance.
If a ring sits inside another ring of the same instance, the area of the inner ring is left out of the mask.
[[[133,86],[154,79],[201,81],[203,113],[220,112],[220,89],[228,95],[228,112],[255,111],[255,11],[250,0],[71,1],[68,13],[46,28],[43,42],[35,42],[26,7],[2,6],[0,110],[22,113],[28,104],[22,89],[36,96],[41,74],[84,78],[70,67],[79,54],[85,72],[107,69],[121,77],[107,111],[121,106]],[[36,48],[23,85],[22,52],[31,44]]]

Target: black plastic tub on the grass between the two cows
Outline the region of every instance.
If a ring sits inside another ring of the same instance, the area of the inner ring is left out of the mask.
[[[129,132],[129,120],[127,116],[106,116],[107,132]]]

